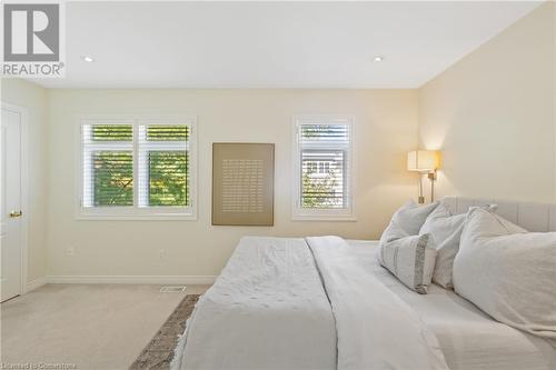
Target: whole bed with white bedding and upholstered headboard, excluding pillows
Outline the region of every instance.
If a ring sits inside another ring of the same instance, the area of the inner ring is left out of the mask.
[[[447,198],[454,212],[484,200]],[[497,202],[529,230],[556,207]],[[556,343],[433,284],[410,291],[376,241],[244,238],[199,300],[172,369],[556,369]]]

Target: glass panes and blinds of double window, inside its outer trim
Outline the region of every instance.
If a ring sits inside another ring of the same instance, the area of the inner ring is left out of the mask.
[[[85,208],[191,204],[189,126],[83,124],[82,133]]]

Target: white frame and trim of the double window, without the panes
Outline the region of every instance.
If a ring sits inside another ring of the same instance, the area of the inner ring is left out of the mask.
[[[85,124],[132,124],[133,206],[82,207]],[[190,206],[139,207],[139,127],[151,124],[187,124],[189,138],[188,181]],[[197,220],[197,117],[190,114],[87,114],[77,117],[76,143],[76,219],[78,220]]]

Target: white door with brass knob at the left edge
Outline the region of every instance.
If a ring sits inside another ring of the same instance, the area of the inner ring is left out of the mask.
[[[0,301],[21,293],[21,113],[2,107],[0,130]]]

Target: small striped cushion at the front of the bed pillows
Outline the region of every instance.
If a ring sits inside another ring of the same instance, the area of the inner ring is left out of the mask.
[[[436,250],[428,248],[428,234],[386,242],[380,249],[381,264],[409,289],[426,294],[433,279]]]

